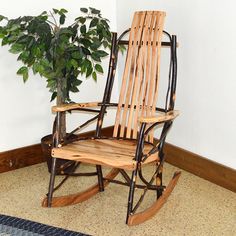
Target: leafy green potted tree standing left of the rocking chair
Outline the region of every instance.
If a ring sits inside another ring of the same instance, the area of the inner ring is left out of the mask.
[[[81,16],[67,26],[67,10],[63,8],[16,19],[0,15],[2,46],[9,45],[9,52],[17,54],[17,60],[23,63],[17,74],[24,82],[30,70],[46,78],[51,101],[56,99],[56,105],[71,102],[70,92],[79,91],[81,76],[96,81],[97,73],[103,73],[101,61],[108,55],[103,50],[111,41],[108,20],[95,8],[80,10]],[[65,137],[65,116],[62,123],[60,137]],[[42,140],[49,158],[51,138]],[[48,160],[49,169],[50,162]]]

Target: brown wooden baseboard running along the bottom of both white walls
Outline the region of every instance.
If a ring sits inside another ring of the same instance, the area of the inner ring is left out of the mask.
[[[102,130],[105,136],[112,135],[113,127]],[[94,131],[81,134],[93,135]],[[236,170],[200,155],[167,143],[166,161],[171,165],[186,170],[212,183],[236,192]],[[35,144],[6,152],[0,152],[0,173],[44,162],[41,145]]]

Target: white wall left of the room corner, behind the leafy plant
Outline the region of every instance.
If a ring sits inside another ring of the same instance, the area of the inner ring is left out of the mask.
[[[88,6],[100,9],[110,20],[111,29],[116,30],[115,0],[3,0],[0,14],[16,18],[37,15],[52,8],[66,8],[68,17],[73,20],[80,14],[81,7]],[[22,78],[16,75],[20,65],[7,47],[0,47],[0,152],[39,143],[42,136],[51,132],[53,104],[49,102],[51,94],[45,79],[31,75],[23,84]],[[99,78],[97,84],[92,79],[86,80],[80,87],[81,92],[73,99],[97,101],[102,98],[104,85],[105,76]]]

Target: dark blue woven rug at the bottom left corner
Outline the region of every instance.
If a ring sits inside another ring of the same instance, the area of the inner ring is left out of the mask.
[[[0,214],[0,236],[88,236],[17,217]]]

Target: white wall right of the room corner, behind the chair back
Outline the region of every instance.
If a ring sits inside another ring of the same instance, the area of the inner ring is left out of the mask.
[[[165,29],[177,34],[181,116],[168,142],[236,168],[236,14],[228,0],[117,1],[118,31],[135,10],[164,10]]]

